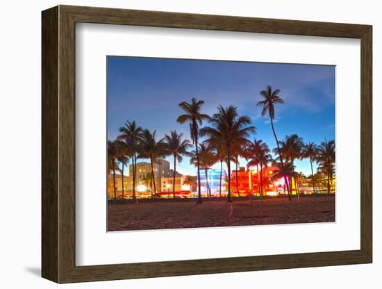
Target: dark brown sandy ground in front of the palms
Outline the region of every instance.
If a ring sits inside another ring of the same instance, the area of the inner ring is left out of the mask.
[[[108,204],[108,231],[334,222],[334,211],[334,196]]]

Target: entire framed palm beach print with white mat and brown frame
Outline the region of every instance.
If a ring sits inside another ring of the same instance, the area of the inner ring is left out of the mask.
[[[42,12],[42,276],[372,262],[372,26]]]

